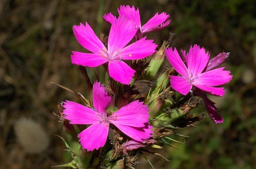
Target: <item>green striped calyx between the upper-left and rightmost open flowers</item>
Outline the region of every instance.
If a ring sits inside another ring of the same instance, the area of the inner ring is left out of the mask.
[[[148,68],[145,71],[145,79],[153,80],[154,78],[156,78],[156,74],[164,62],[165,46],[166,46],[166,41],[163,42],[163,45],[161,46],[161,48],[154,54],[154,56],[150,60]]]

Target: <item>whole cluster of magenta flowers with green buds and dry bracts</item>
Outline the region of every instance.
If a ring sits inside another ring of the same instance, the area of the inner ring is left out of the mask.
[[[111,24],[108,40],[98,38],[87,22],[73,26],[77,41],[91,52],[72,51],[71,55],[72,63],[80,66],[86,79],[89,100],[68,89],[84,99],[86,106],[66,101],[60,106],[64,109],[59,108],[61,116],[58,117],[66,125],[66,133],[74,135],[77,132],[75,135],[83,147],[82,150],[73,148],[72,140],[70,145],[66,143],[71,152],[79,152],[76,153],[78,161],[74,158],[75,161],[67,166],[75,163],[79,168],[95,167],[101,161],[100,165],[105,167],[114,164],[110,164],[114,159],[115,165],[120,162],[131,167],[136,164],[135,156],[127,156],[125,162],[120,161],[124,160],[121,152],[127,155],[127,151],[141,149],[153,153],[146,148],[148,145],[159,149],[162,147],[155,145],[157,141],[171,145],[166,140],[173,139],[166,136],[173,134],[173,130],[193,126],[193,122],[204,118],[203,113],[199,116],[189,114],[200,101],[197,96],[204,100],[212,120],[216,124],[223,122],[215,103],[207,98],[206,93],[217,96],[225,94],[224,88],[219,86],[228,83],[232,75],[224,70],[225,67],[216,67],[228,58],[229,53],[222,52],[209,61],[210,54],[205,53],[203,47],[194,45],[188,53],[181,50],[180,57],[176,48],[168,47],[173,38],[171,33],[169,40],[164,41],[156,51],[157,45],[144,35],[167,27],[171,21],[170,15],[156,13],[141,26],[138,8],[135,10],[134,6],[123,5],[118,9],[118,14],[116,17],[109,12],[103,16]],[[172,67],[167,67],[157,78],[165,56]],[[91,83],[92,79],[84,67],[98,68],[97,81]],[[195,101],[192,101],[193,98],[196,98]],[[78,130],[79,125],[84,126],[83,130]],[[109,147],[108,143],[112,146]],[[88,159],[81,162],[80,152],[83,154],[84,149],[86,154],[100,151],[96,153],[98,157],[87,154]],[[108,152],[111,152],[111,156]],[[91,158],[102,159],[94,162]]]

